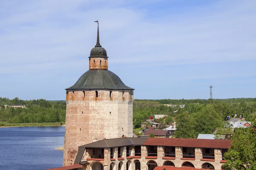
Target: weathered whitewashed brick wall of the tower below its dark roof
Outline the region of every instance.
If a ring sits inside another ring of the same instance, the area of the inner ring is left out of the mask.
[[[133,90],[69,90],[66,102],[64,166],[73,164],[81,145],[133,136]]]

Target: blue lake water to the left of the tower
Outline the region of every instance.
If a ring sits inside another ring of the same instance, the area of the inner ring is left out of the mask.
[[[0,128],[0,170],[62,167],[65,127]]]

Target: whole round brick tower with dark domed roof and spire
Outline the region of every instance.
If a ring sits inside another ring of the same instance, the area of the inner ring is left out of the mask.
[[[90,51],[89,70],[66,89],[63,165],[73,164],[78,147],[101,139],[132,137],[133,88],[108,70],[99,43]]]

